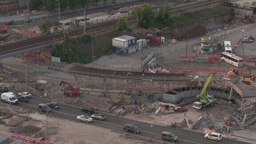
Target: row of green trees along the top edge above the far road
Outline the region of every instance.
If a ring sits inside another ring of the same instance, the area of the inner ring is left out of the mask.
[[[99,1],[104,1],[106,4],[107,0],[59,0],[60,2],[60,11],[64,11],[68,7],[71,9],[76,9],[77,7],[85,8],[90,2],[96,3],[98,5]],[[57,0],[30,0],[29,6],[31,9],[39,10],[40,7],[46,6],[49,12],[54,12],[55,8],[58,8]],[[112,3],[115,4],[116,0],[112,0]]]

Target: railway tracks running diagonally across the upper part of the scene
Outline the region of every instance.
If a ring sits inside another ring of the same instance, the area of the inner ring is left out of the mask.
[[[194,3],[172,7],[171,12],[172,13],[182,12],[182,11],[185,11],[188,9],[199,8],[199,7],[207,6],[210,4],[222,3],[225,1],[227,1],[227,0],[199,0]],[[129,24],[133,24],[135,22],[133,20],[133,18],[134,18],[133,15],[127,16],[126,18],[128,19]],[[102,29],[115,28],[115,27],[117,27],[117,21],[118,20],[111,20],[111,21],[106,21],[106,22],[102,22],[99,24],[89,25],[86,29],[86,32],[88,32],[88,33],[99,32]],[[65,32],[68,32],[69,36],[75,36],[75,35],[82,34],[84,32],[84,29],[81,27],[81,28],[76,28],[73,30],[67,30]],[[28,48],[32,48],[32,47],[40,46],[40,45],[44,45],[44,44],[51,44],[53,40],[60,40],[63,37],[64,37],[64,33],[59,32],[59,33],[55,33],[55,34],[52,34],[49,36],[40,36],[40,37],[36,37],[33,39],[22,40],[22,41],[18,41],[18,42],[11,43],[11,44],[0,45],[0,55],[8,54],[11,52],[18,52],[21,50],[25,50]]]

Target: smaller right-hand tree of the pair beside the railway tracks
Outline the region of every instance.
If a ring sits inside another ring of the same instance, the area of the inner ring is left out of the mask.
[[[160,6],[159,11],[156,12],[156,20],[160,24],[166,24],[169,21],[170,6],[168,3],[164,3]]]

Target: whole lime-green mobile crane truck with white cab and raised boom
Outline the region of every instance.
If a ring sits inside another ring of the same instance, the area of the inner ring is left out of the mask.
[[[208,87],[212,81],[212,78],[215,76],[216,72],[211,72],[206,80],[204,87],[202,88],[199,95],[196,98],[200,99],[200,101],[196,101],[193,103],[193,108],[196,109],[203,109],[203,108],[210,108],[213,107],[216,99],[212,95],[208,95]]]

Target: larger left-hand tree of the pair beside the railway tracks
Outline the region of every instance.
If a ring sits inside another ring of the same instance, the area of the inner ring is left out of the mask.
[[[139,26],[147,29],[152,24],[154,13],[148,4],[143,4],[141,8],[135,8],[134,17]]]

